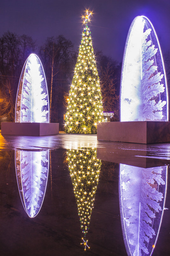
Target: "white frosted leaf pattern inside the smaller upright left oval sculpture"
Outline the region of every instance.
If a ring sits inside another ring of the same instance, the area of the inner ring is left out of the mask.
[[[44,93],[45,78],[41,73],[41,64],[37,56],[28,58],[23,81],[21,100],[21,122],[47,122],[47,93]],[[44,74],[43,74],[44,75]]]

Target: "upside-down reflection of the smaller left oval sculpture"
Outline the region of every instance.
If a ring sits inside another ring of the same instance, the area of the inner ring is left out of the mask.
[[[20,197],[29,217],[42,206],[47,177],[49,151],[16,151],[16,173]]]

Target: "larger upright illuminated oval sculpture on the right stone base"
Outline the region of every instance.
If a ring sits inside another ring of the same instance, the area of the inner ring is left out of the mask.
[[[121,121],[168,121],[168,96],[160,44],[149,19],[129,29],[120,85]]]

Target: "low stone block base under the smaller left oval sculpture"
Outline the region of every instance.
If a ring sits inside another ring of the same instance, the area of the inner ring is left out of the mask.
[[[59,133],[59,123],[1,123],[2,135],[44,136]]]

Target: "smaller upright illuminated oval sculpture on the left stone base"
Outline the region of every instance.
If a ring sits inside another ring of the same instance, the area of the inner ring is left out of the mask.
[[[49,100],[43,66],[31,54],[23,67],[16,99],[16,122],[49,123]]]

